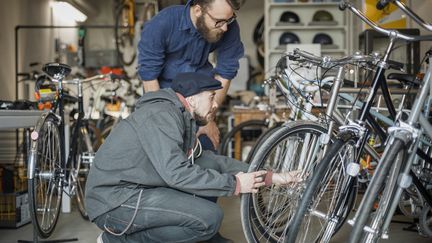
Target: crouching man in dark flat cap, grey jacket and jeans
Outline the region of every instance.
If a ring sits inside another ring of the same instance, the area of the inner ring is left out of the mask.
[[[217,108],[221,83],[200,73],[179,74],[172,88],[144,94],[136,110],[96,153],[86,183],[89,218],[99,242],[213,241],[223,218],[197,196],[255,193],[264,185],[300,181],[298,172],[247,172],[246,163],[202,151],[197,124]]]

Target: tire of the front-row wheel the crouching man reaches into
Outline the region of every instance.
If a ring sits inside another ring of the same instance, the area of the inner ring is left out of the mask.
[[[288,149],[286,150],[285,156],[288,154],[293,155],[296,151],[302,151],[303,149],[305,149],[303,151],[310,151],[308,149],[310,149],[311,147],[307,147],[307,146],[305,147],[304,144],[307,143],[308,145],[312,146],[314,142],[320,141],[318,139],[322,134],[326,134],[326,133],[327,133],[326,128],[311,121],[297,121],[297,122],[284,124],[283,126],[276,129],[272,134],[270,134],[266,138],[266,140],[262,143],[262,145],[257,148],[255,156],[252,158],[251,165],[249,167],[249,172],[258,171],[262,169],[265,170],[271,169],[275,172],[281,172],[281,169],[287,171],[294,169],[293,167],[299,166],[298,164],[296,164],[296,162],[301,160],[299,159],[299,157],[294,156],[293,158],[295,159],[290,160],[288,163],[274,164],[273,167],[270,168],[269,168],[269,164],[267,164],[267,161],[269,158],[271,160],[272,156],[276,156],[276,158],[278,158],[277,155],[279,155],[279,153],[277,150],[279,148],[279,145],[282,146],[284,145],[283,143],[285,143],[285,147],[283,148],[286,148],[286,145],[288,145],[288,147],[294,145],[294,147],[292,147],[291,150]],[[309,141],[310,143],[307,141]],[[318,143],[316,145],[319,146]],[[292,153],[289,153],[288,151]],[[286,159],[288,157],[285,156],[283,157],[284,161],[287,161]],[[280,168],[280,166],[283,166],[283,168]],[[265,188],[261,188],[259,192],[256,194],[242,195],[241,221],[242,221],[243,231],[248,242],[260,242],[260,240],[265,240],[265,242],[279,242],[283,238],[284,236],[283,234],[284,232],[286,232],[286,228],[287,225],[289,224],[289,218],[290,218],[289,217],[290,212],[286,211],[288,206],[282,209],[281,212],[283,212],[283,215],[281,214],[280,217],[274,217],[274,215],[277,215],[280,212],[279,210],[273,210],[271,209],[271,207],[266,208],[263,206],[265,203],[263,203],[262,205],[260,205],[259,203],[260,200],[263,200],[266,197],[270,198],[270,196],[268,196],[267,194],[271,195],[272,193],[274,194],[280,193],[279,192],[280,189],[281,187],[276,187],[276,186],[265,187]],[[293,200],[294,198],[296,197],[289,197],[286,198],[286,200],[289,201],[289,200]],[[283,206],[289,205],[291,203],[292,205],[294,205],[293,207],[291,207],[291,209],[292,210],[295,209],[296,203],[295,202],[292,203],[288,201],[285,201],[283,203]],[[268,214],[268,212],[271,213]],[[280,225],[273,224],[271,222],[272,218],[276,218],[276,220],[278,220],[276,221],[276,223],[281,223],[281,224]],[[272,232],[268,230],[269,228],[272,227],[271,224],[277,227],[277,229],[275,227],[274,231]]]

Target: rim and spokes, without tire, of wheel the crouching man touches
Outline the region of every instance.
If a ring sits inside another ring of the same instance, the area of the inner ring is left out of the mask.
[[[319,137],[322,133],[323,131],[319,130],[311,132],[308,128],[300,130],[294,136],[287,135],[277,143],[277,146],[269,150],[260,169],[286,172],[301,169],[307,164],[306,161],[315,161],[316,156],[312,156],[313,153],[307,151],[317,152],[315,155],[319,156],[321,146]],[[284,162],[279,163],[279,161]],[[251,221],[257,241],[278,242],[285,238],[303,190],[304,183],[297,183],[290,186],[262,187],[258,193],[251,195],[251,210],[253,210],[250,212]]]

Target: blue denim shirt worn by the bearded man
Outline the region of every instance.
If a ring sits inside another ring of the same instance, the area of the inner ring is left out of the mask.
[[[216,53],[216,67],[208,57]],[[161,88],[171,86],[179,72],[218,74],[233,79],[244,55],[237,21],[216,43],[207,42],[190,17],[190,4],[163,9],[144,25],[138,44],[138,75],[141,80],[158,79]]]

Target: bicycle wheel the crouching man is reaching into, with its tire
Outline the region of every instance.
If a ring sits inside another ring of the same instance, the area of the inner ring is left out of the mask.
[[[286,172],[302,169],[309,173],[321,157],[321,138],[327,130],[317,123],[287,123],[274,131],[257,148],[249,172]],[[243,194],[241,220],[248,242],[282,241],[301,197],[303,183],[260,188]]]

